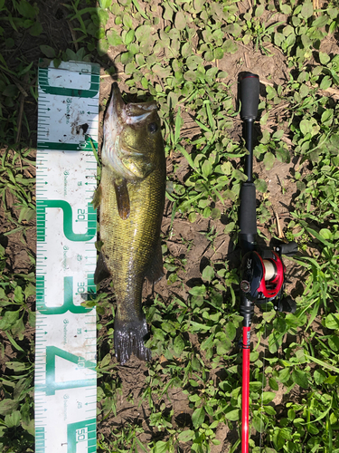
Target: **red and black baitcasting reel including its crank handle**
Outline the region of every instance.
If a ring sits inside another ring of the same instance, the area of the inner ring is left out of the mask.
[[[281,255],[295,255],[297,243],[281,244],[271,250],[252,250],[242,258],[240,292],[255,304],[273,302],[278,312],[295,313],[295,301],[284,293],[286,267]]]

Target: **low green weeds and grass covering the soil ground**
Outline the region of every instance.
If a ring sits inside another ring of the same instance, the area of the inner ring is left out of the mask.
[[[126,83],[130,94],[141,99],[151,95],[158,102],[166,155],[174,162],[168,174],[173,190],[167,194],[172,224],[178,218],[193,225],[209,219],[205,236],[212,246],[222,215],[228,217],[224,233],[236,238],[240,184],[246,179],[240,160],[246,151],[241,140],[232,138],[240,124],[232,94],[236,81],[219,70],[220,63],[238,53],[240,62],[244,46],[265,58],[278,53],[287,63],[287,80],[270,80],[260,97],[261,132],[254,152],[268,171],[279,162],[298,162],[288,175],[297,192],[285,233],[302,251],[294,265],[303,284],[296,313],[274,313],[268,306],[253,325],[258,342],[251,352],[250,448],[253,453],[337,452],[339,57],[326,53],[324,44],[336,40],[339,5],[329,2],[315,12],[309,1],[262,1],[245,13],[243,5],[231,0],[161,5],[100,0],[94,7],[67,1],[63,11],[75,41],[61,48],[46,40],[47,24],[36,4],[0,1],[0,449],[33,451],[34,255],[29,251],[27,272],[17,273],[7,248],[11,236],[23,246],[31,244],[34,230],[34,130],[27,109],[36,105],[37,60],[15,53],[18,36],[27,36],[40,49],[37,56],[55,64],[70,59],[100,63],[107,75]],[[108,50],[117,55],[118,73]],[[194,134],[184,138],[188,116]],[[188,173],[184,179],[177,173],[181,159]],[[259,221],[269,227],[267,183],[260,174],[256,178]],[[168,287],[183,287],[186,258],[171,255],[166,239]],[[183,244],[186,251],[193,246]],[[100,423],[117,413],[124,388],[111,361],[114,310],[108,295],[99,294],[99,451],[209,452],[218,445],[217,429],[224,425],[238,430],[232,439],[239,439],[238,272],[230,263],[212,261],[202,272],[202,284],[189,289],[184,300],[174,295],[164,300],[159,294],[147,305],[152,325],[148,346],[155,361],[147,365],[138,400],[130,401],[146,408],[153,432],[146,443],[140,440],[146,432],[142,421],[125,422],[109,436],[100,431]],[[103,317],[108,319],[105,326]],[[174,388],[188,400],[191,419],[184,426],[174,422],[168,400]],[[272,402],[278,390],[286,395],[282,407]],[[233,441],[228,451],[236,451],[239,442]]]

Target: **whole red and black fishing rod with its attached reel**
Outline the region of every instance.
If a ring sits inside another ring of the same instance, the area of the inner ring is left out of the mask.
[[[257,244],[256,188],[253,181],[253,126],[258,115],[259,76],[243,72],[240,77],[240,116],[249,151],[245,159],[247,181],[240,189],[240,314],[242,323],[242,414],[241,453],[249,453],[250,324],[254,304],[272,302],[278,312],[295,313],[296,303],[284,295],[286,267],[281,255],[297,253],[297,243],[281,243],[274,249]]]

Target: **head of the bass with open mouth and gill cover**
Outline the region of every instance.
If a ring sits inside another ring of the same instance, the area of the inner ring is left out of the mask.
[[[165,159],[155,101],[125,103],[113,86],[104,120],[102,160],[116,178],[146,178]]]

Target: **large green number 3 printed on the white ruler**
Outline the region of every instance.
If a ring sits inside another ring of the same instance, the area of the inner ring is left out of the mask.
[[[42,275],[43,277],[43,275]],[[88,280],[91,280],[91,275],[88,275]],[[37,282],[38,283],[38,282]],[[43,280],[44,284],[44,280]],[[37,294],[37,310],[43,314],[63,314],[71,313],[89,313],[92,308],[85,308],[81,305],[73,304],[73,277],[63,277],[63,304],[61,307],[47,307],[44,304],[44,291],[42,289],[42,278],[39,279],[39,294]],[[38,290],[37,290],[38,291]]]

